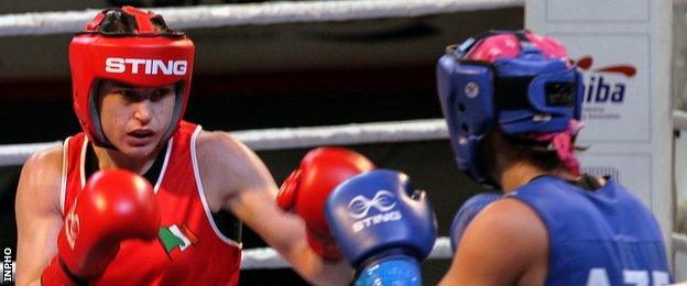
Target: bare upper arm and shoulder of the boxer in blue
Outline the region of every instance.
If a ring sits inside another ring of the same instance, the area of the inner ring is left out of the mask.
[[[547,262],[544,222],[525,204],[501,199],[468,226],[440,285],[543,285]]]

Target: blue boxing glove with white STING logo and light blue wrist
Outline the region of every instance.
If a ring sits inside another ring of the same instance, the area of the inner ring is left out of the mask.
[[[327,222],[356,285],[422,285],[419,262],[436,240],[426,194],[405,174],[375,169],[338,185],[326,202]]]

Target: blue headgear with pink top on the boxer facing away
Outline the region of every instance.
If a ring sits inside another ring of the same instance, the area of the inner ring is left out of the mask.
[[[563,44],[527,31],[491,31],[449,46],[437,86],[458,167],[478,183],[493,183],[480,153],[494,128],[506,135],[561,132],[581,114],[581,73]]]

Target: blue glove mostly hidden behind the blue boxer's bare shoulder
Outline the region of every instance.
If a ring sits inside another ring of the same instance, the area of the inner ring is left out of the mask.
[[[468,228],[470,221],[489,204],[499,200],[501,197],[503,197],[503,195],[499,193],[482,193],[471,197],[460,206],[456,217],[454,217],[450,229],[450,242],[454,253],[456,253],[460,238]]]

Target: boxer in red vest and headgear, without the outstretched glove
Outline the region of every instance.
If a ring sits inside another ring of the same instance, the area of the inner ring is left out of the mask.
[[[318,219],[296,216],[324,213],[282,210],[251,150],[182,120],[194,51],[162,16],[131,7],[98,13],[74,36],[83,132],[22,169],[19,285],[235,285],[242,223],[310,283],[350,282],[336,255],[310,249],[326,238],[306,234],[306,221]]]

